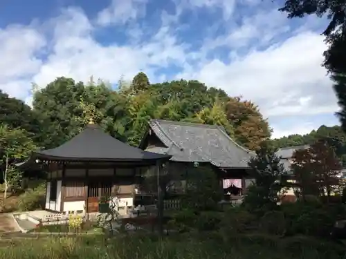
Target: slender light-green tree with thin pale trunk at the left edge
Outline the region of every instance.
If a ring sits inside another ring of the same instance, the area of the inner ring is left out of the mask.
[[[15,187],[21,180],[21,173],[17,171],[15,162],[29,157],[37,147],[26,131],[1,124],[0,148],[0,169],[3,171],[5,184],[3,197],[6,198],[9,187]]]

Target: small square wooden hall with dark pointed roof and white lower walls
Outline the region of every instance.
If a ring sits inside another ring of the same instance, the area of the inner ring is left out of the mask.
[[[46,167],[46,210],[92,213],[99,211],[100,198],[111,195],[118,207],[133,206],[141,169],[159,170],[170,157],[120,142],[91,121],[61,146],[36,151],[26,164]]]

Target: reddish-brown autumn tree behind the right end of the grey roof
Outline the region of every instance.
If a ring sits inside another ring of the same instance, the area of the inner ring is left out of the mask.
[[[235,128],[235,138],[251,150],[260,148],[261,142],[271,136],[268,121],[251,101],[229,98],[226,115]]]

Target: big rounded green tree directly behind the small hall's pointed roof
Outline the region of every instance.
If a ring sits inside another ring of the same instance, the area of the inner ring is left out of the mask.
[[[53,148],[66,142],[80,132],[86,124],[84,109],[93,106],[98,115],[96,123],[101,124],[111,135],[116,135],[118,127],[113,126],[116,100],[120,97],[103,81],[88,85],[75,83],[71,78],[55,79],[35,93],[33,108],[42,115],[42,143],[44,148]]]

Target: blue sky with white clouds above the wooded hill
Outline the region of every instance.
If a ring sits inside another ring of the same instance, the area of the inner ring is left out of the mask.
[[[31,102],[56,77],[116,85],[197,79],[251,99],[273,137],[338,124],[322,52],[325,18],[287,19],[280,0],[3,0],[0,89]]]

